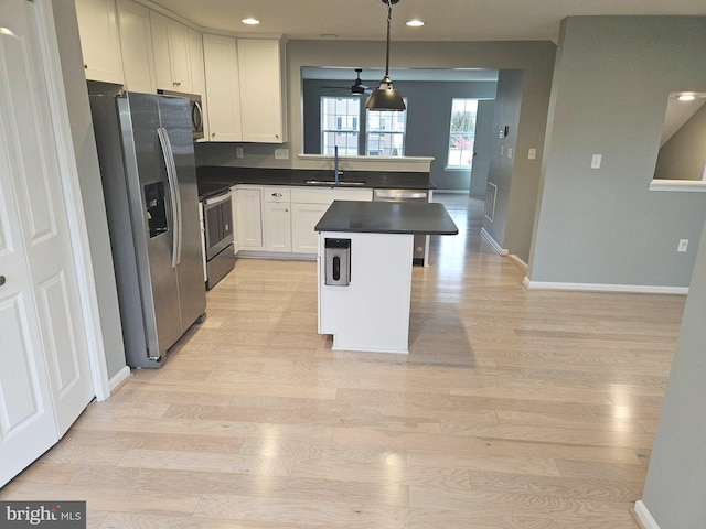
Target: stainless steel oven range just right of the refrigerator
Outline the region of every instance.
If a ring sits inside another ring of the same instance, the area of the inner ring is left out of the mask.
[[[233,256],[233,202],[226,191],[203,202],[206,256],[206,289],[211,290],[231,270]]]

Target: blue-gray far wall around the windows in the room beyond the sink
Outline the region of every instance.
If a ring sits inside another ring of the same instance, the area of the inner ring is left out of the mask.
[[[363,79],[367,86],[376,86],[379,79]],[[393,79],[394,80],[394,79]],[[322,96],[349,96],[351,82],[307,79],[303,84],[304,152],[321,153],[321,105]],[[341,86],[343,91],[332,91],[330,86]],[[407,137],[405,155],[432,156],[431,180],[438,190],[468,192],[471,170],[447,170],[449,149],[449,120],[453,98],[494,99],[496,83],[458,82],[397,82],[395,88],[407,99]],[[365,98],[362,98],[365,101]],[[364,114],[363,114],[364,117]],[[364,120],[361,130],[364,130]],[[363,138],[364,134],[362,134]],[[483,190],[484,191],[484,190]]]

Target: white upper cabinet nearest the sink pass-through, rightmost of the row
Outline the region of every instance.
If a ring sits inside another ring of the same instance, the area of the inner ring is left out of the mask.
[[[238,39],[243,141],[286,140],[281,63],[279,41]]]

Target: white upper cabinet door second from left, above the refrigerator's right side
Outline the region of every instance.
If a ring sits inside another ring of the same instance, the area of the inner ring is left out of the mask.
[[[118,28],[122,50],[125,87],[131,91],[154,94],[154,56],[150,10],[132,0],[118,0]]]

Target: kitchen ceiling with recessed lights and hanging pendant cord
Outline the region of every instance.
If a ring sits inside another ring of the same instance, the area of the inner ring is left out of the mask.
[[[202,29],[287,39],[385,40],[385,0],[140,0]],[[443,6],[443,9],[440,9]],[[704,0],[399,0],[398,41],[557,41],[568,15],[706,15]],[[240,20],[253,17],[259,25]],[[425,21],[408,28],[411,19]],[[335,35],[335,36],[334,36]]]

